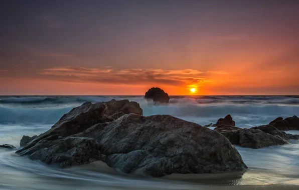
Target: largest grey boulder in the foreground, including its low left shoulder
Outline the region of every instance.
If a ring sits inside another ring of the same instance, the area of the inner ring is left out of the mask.
[[[73,134],[82,126],[68,127],[73,127],[70,132]],[[81,138],[86,141],[81,143]],[[87,141],[94,145],[88,146],[85,151]],[[77,134],[67,137],[53,134],[39,141],[33,140],[30,144],[18,152],[46,163],[54,160],[60,165],[83,163],[90,157],[92,160],[101,159],[100,155],[104,154],[107,159],[103,161],[116,170],[152,176],[247,168],[239,152],[223,135],[171,115],[125,114],[111,122],[90,126]],[[82,147],[84,151],[80,149]],[[73,158],[73,152],[75,155],[78,152],[84,161],[78,161],[77,156]]]

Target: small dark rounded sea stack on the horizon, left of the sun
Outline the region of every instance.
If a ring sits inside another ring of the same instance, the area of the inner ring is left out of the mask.
[[[169,103],[169,95],[159,87],[152,87],[145,92],[145,99],[152,99],[154,102]]]

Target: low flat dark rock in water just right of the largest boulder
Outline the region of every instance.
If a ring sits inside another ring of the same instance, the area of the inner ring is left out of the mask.
[[[227,137],[232,144],[243,147],[262,148],[288,143],[278,135],[271,135],[259,129],[239,128],[236,126],[217,126],[215,130]]]

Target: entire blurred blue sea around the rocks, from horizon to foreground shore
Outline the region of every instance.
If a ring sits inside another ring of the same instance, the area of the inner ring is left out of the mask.
[[[236,126],[267,124],[278,116],[299,116],[299,96],[171,96],[166,105],[143,96],[0,96],[0,144],[20,147],[23,135],[39,135],[85,101],[136,101],[143,115],[170,114],[201,125],[231,114]],[[213,129],[213,127],[210,127]],[[286,131],[299,134],[299,130]],[[15,150],[0,148],[0,189],[299,189],[299,140],[259,149],[235,146],[248,169],[217,174],[144,177],[119,173],[105,163],[58,168]]]

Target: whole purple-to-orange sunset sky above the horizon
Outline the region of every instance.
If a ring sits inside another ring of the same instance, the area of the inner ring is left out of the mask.
[[[2,95],[299,94],[297,0],[0,0],[0,28]]]

